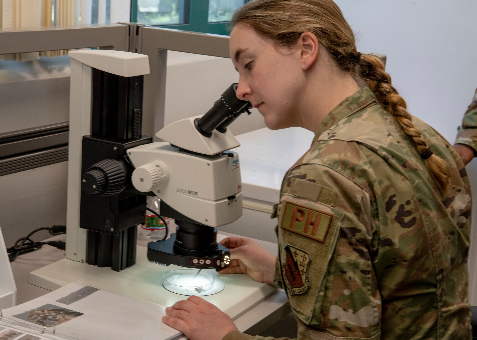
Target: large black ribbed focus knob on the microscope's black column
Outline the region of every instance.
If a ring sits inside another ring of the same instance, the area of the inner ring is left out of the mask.
[[[81,188],[90,195],[111,196],[126,187],[126,165],[121,160],[102,160],[83,174]]]

